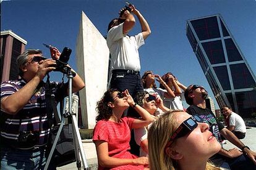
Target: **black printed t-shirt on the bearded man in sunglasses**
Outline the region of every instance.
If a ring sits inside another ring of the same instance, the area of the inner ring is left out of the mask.
[[[200,118],[205,120],[209,125],[216,124],[215,127],[213,127],[213,135],[216,137],[216,139],[220,142],[220,131],[224,128],[223,124],[216,119],[213,112],[208,108],[200,108],[195,105],[191,105],[189,108],[187,108],[187,113],[190,115],[198,115]]]

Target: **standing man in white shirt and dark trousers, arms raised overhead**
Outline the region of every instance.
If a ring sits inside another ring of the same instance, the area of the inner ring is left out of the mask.
[[[120,11],[121,16],[109,23],[106,41],[111,54],[110,88],[116,88],[120,91],[128,89],[132,97],[135,97],[137,92],[143,91],[138,49],[144,44],[144,40],[151,31],[139,10],[135,9],[134,5],[129,7],[131,13],[137,15],[139,19],[142,28],[141,33],[135,36],[127,35],[135,25],[135,18],[129,10],[122,9]]]

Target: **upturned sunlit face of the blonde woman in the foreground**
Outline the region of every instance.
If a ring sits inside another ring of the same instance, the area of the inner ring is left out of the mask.
[[[186,112],[174,114],[176,114],[176,119],[179,124],[191,116]],[[176,141],[173,146],[174,150],[181,153],[183,158],[193,158],[197,155],[198,159],[208,159],[221,149],[221,145],[209,131],[207,123],[198,123],[198,126],[192,132],[174,141]]]

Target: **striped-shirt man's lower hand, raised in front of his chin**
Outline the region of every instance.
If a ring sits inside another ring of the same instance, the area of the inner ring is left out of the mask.
[[[38,66],[38,71],[36,73],[36,76],[38,76],[38,78],[40,78],[40,81],[42,81],[43,78],[45,78],[45,76],[48,72],[56,69],[56,67],[54,67],[54,65],[56,65],[56,61],[53,59],[46,59],[46,60],[40,61],[39,66]]]

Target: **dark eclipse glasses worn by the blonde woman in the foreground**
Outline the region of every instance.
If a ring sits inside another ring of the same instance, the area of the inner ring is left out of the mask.
[[[178,139],[179,137],[186,136],[190,132],[194,131],[194,129],[198,126],[197,123],[204,123],[202,118],[198,115],[193,115],[190,118],[186,119],[181,123],[179,127],[177,127],[176,131],[173,133],[171,136],[169,142],[166,144],[166,147],[169,147],[171,143],[175,140]],[[165,147],[165,148],[166,148]]]

